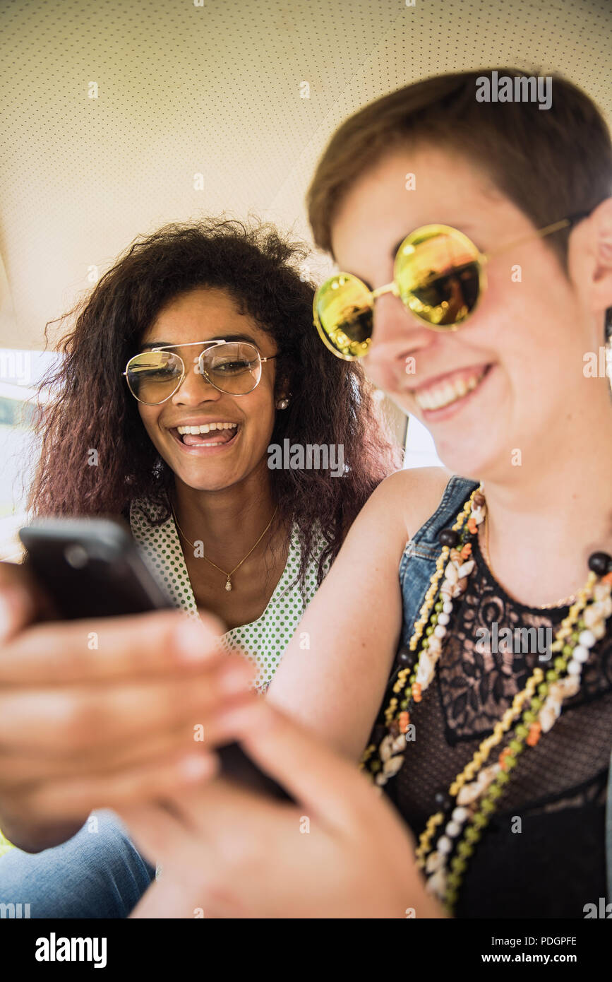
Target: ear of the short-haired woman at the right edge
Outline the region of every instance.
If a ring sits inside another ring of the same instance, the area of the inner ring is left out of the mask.
[[[612,197],[607,197],[570,237],[568,268],[585,291],[593,314],[612,307]]]

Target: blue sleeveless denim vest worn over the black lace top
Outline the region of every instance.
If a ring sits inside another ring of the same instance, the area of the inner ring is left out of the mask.
[[[428,518],[404,549],[399,564],[399,582],[403,598],[402,642],[404,644],[408,644],[412,637],[414,623],[425,601],[425,595],[435,570],[435,561],[440,551],[438,535],[442,528],[448,528],[454,524],[462,506],[477,487],[478,484],[475,481],[469,481],[465,477],[451,477],[434,515]],[[399,671],[399,668],[396,671]],[[608,899],[612,900],[612,753],[607,795],[606,865]]]

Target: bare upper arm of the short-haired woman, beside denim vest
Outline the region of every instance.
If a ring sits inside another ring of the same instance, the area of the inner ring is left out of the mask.
[[[376,719],[397,650],[399,561],[437,507],[440,467],[387,477],[355,519],[332,570],[284,652],[268,698],[357,759]]]

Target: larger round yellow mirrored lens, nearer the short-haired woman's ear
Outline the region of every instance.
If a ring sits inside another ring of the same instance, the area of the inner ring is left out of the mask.
[[[453,327],[472,313],[483,286],[480,253],[457,229],[428,225],[411,233],[395,259],[399,296],[428,324]]]

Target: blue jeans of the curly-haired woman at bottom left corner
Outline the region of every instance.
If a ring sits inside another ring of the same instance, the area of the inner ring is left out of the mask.
[[[67,843],[0,858],[0,903],[29,904],[30,917],[128,917],[155,879],[111,811],[95,812]],[[2,908],[3,916],[5,908]]]

